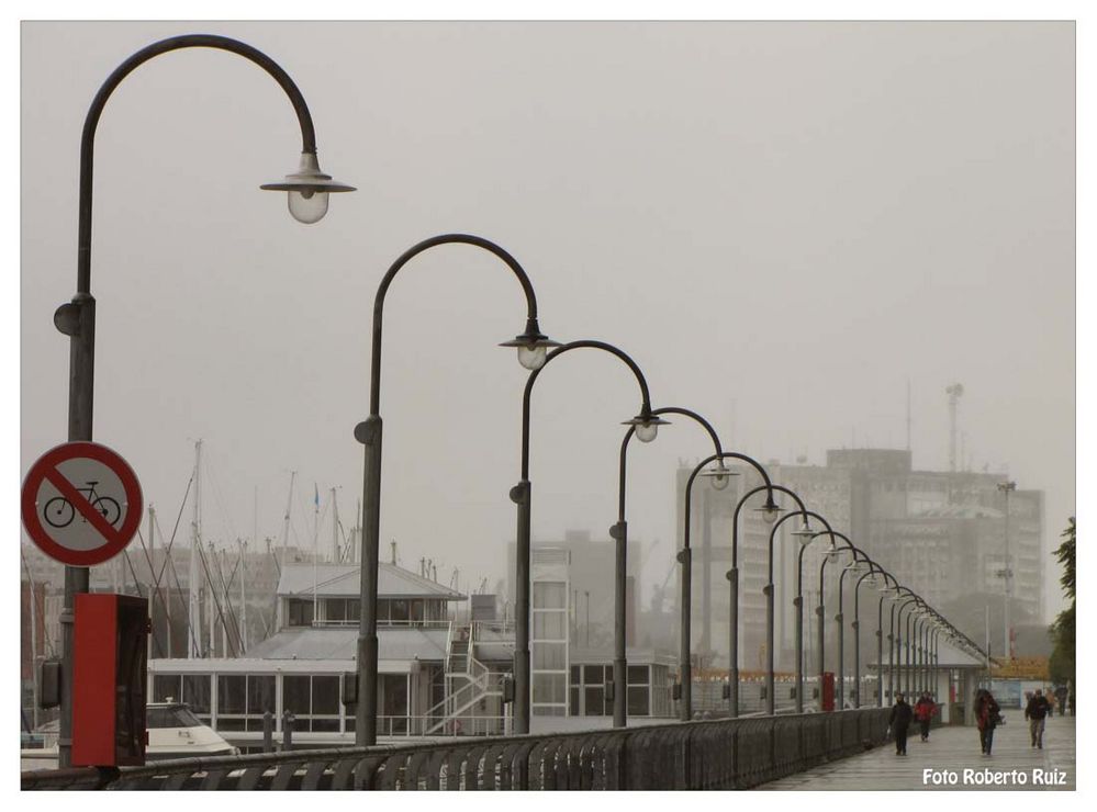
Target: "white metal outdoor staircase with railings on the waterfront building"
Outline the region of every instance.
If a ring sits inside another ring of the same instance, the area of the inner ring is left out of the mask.
[[[475,658],[474,634],[474,624],[451,630],[446,652],[446,698],[426,712],[424,735],[504,733],[503,675],[489,670]]]

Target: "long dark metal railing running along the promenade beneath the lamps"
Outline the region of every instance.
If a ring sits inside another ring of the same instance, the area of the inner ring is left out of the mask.
[[[746,789],[886,738],[887,708],[23,772],[33,789]]]

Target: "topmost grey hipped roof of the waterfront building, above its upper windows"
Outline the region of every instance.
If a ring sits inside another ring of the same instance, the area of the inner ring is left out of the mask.
[[[278,579],[278,595],[312,597],[313,578],[316,595],[324,598],[357,598],[360,595],[358,564],[286,564],[282,577]],[[464,600],[461,595],[447,586],[416,575],[395,564],[381,563],[378,566],[377,594],[380,598],[435,598],[440,600]]]

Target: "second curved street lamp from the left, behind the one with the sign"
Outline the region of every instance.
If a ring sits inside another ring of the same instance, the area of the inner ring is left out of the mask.
[[[379,535],[381,527],[381,323],[384,297],[389,285],[404,266],[430,248],[446,245],[467,245],[480,248],[503,261],[517,278],[526,298],[526,329],[513,341],[517,342],[518,360],[523,366],[544,363],[546,348],[557,342],[542,335],[537,323],[537,296],[533,283],[518,261],[500,246],[471,234],[443,234],[430,237],[408,248],[390,266],[378,285],[373,298],[373,343],[370,354],[369,417],[355,427],[355,439],[366,447],[365,475],[362,477],[362,555],[360,568],[361,619],[358,627],[358,704],[355,710],[355,744],[377,744],[377,590]]]

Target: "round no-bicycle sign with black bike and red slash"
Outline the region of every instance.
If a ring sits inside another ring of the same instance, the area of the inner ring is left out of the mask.
[[[141,485],[130,464],[94,442],[43,454],[23,480],[23,527],[49,557],[69,566],[113,559],[137,532]]]

